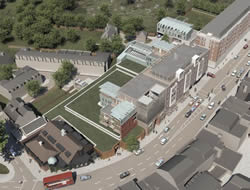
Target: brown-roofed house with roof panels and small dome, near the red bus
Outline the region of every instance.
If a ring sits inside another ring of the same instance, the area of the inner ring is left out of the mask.
[[[92,161],[93,145],[64,121],[49,121],[40,132],[23,141],[26,151],[42,168],[80,167]],[[56,161],[50,163],[49,160]]]

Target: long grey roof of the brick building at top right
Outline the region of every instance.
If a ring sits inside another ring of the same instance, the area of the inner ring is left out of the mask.
[[[250,10],[249,0],[235,0],[222,13],[209,22],[201,32],[211,33],[217,38],[221,38],[229,31]]]

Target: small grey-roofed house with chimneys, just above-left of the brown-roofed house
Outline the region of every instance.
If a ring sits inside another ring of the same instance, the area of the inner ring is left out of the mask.
[[[12,99],[4,108],[4,112],[17,128],[36,119],[36,114],[21,98]]]

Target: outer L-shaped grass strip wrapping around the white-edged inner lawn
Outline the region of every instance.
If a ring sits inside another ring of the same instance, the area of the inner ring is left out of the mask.
[[[115,70],[115,67],[111,68],[108,72],[106,72],[102,77],[98,80],[93,82],[92,84],[88,85],[86,88],[76,92],[70,98],[68,98],[65,102],[54,108],[53,110],[49,111],[45,116],[48,119],[53,119],[59,115],[64,117],[68,122],[70,122],[74,127],[76,127],[79,131],[81,131],[86,137],[88,137],[91,141],[96,143],[96,148],[101,151],[108,151],[118,142],[116,139],[112,138],[111,136],[101,132],[100,130],[96,129],[95,127],[89,125],[88,123],[82,121],[81,119],[75,117],[74,115],[70,114],[69,112],[65,111],[64,106],[72,101],[74,98],[79,96],[83,93],[83,91],[91,88],[92,86],[96,85],[97,82],[102,80],[107,74],[110,74]],[[95,87],[94,87],[95,88]],[[99,95],[99,93],[98,93]],[[82,108],[84,109],[84,107]]]

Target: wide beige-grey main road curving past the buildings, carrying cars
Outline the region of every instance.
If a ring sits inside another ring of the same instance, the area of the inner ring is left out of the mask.
[[[209,118],[215,114],[215,110],[218,108],[218,101],[224,100],[231,89],[235,87],[236,77],[231,76],[231,71],[245,67],[248,69],[246,62],[250,60],[246,55],[248,50],[242,50],[240,57],[237,60],[231,60],[222,70],[216,73],[216,78],[210,79],[204,88],[197,93],[205,99],[207,94],[213,89],[213,98],[211,101],[215,101],[215,107],[213,110],[208,110],[206,101],[200,105],[195,112],[189,117],[185,118],[185,113],[190,109],[190,106],[179,107],[182,111],[176,116],[176,118],[169,124],[171,128],[168,133],[159,133],[151,143],[144,147],[145,152],[139,156],[131,155],[126,159],[123,159],[110,166],[88,173],[92,176],[89,181],[81,182],[76,180],[76,184],[65,187],[65,190],[111,190],[122,185],[133,178],[142,179],[156,169],[155,162],[159,158],[163,158],[165,161],[175,155],[185,145],[190,143],[195,138],[197,133],[205,126]],[[229,72],[229,74],[228,74]],[[246,71],[245,71],[246,73]],[[221,90],[221,85],[226,85],[226,91]],[[207,115],[205,121],[200,121],[200,116],[205,113]],[[166,136],[169,141],[165,145],[160,145],[160,138]],[[29,169],[24,166],[19,158],[12,161],[15,168],[14,178],[7,183],[3,183],[0,186],[0,190],[42,190],[43,185],[41,181],[37,181]],[[119,175],[123,171],[130,171],[131,175],[120,179]],[[18,184],[19,180],[23,180],[23,184]]]

